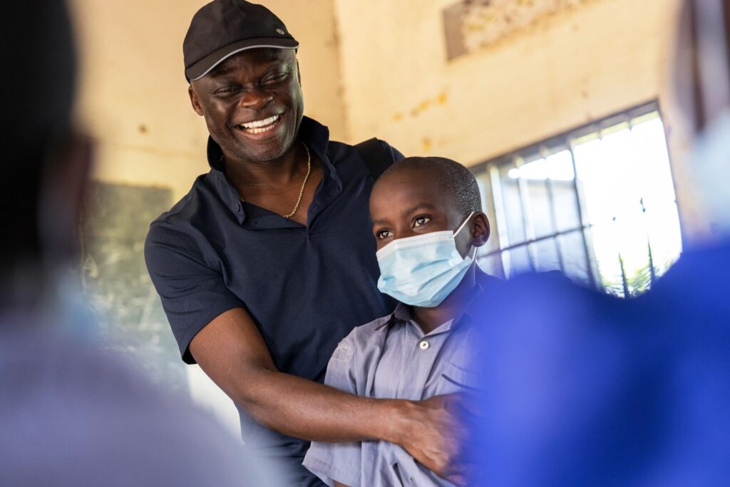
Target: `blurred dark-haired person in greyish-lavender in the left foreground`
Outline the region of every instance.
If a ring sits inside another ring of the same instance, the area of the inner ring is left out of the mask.
[[[3,2],[0,23],[0,485],[280,485],[188,400],[95,350],[73,304],[91,147],[70,123],[68,13],[63,1]]]

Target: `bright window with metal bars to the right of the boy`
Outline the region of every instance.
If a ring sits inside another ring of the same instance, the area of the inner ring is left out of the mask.
[[[646,291],[682,251],[664,124],[652,102],[472,168],[494,275],[560,270],[617,296]]]

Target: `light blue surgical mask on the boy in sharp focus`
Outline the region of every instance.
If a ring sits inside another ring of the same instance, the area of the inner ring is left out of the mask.
[[[393,240],[377,251],[380,265],[380,292],[400,302],[418,307],[437,307],[464,279],[474,262],[477,249],[471,256],[462,257],[456,249],[456,236],[474,215],[469,213],[464,223],[452,232],[434,231]]]

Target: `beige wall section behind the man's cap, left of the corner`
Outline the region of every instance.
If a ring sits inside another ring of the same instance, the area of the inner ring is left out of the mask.
[[[345,137],[333,0],[261,0],[299,40],[305,113]],[[172,188],[207,171],[205,124],[188,101],[183,37],[204,0],[71,0],[78,115],[98,141],[100,180]]]

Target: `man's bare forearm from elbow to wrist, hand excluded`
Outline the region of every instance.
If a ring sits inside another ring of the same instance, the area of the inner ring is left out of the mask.
[[[247,375],[245,388],[228,394],[256,421],[304,440],[400,443],[418,415],[414,402],[353,396],[282,372]]]

